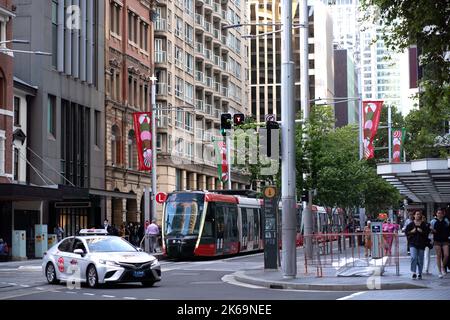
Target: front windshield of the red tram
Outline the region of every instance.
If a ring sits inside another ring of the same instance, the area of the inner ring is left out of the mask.
[[[165,235],[198,235],[204,206],[203,194],[176,193],[166,201]]]

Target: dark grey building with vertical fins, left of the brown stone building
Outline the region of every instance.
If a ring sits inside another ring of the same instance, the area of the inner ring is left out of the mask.
[[[105,217],[103,1],[15,5],[14,36],[30,41],[16,49],[51,56],[15,56],[14,75],[34,88],[35,97],[25,98],[29,192],[17,199],[23,203],[12,204],[13,229],[23,225],[33,239],[35,224],[52,233],[59,223],[66,236],[74,235]],[[23,96],[17,97],[22,105]]]

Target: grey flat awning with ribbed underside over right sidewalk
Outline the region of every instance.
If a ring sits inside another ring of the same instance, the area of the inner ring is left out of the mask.
[[[450,202],[450,158],[383,163],[377,173],[414,202]]]

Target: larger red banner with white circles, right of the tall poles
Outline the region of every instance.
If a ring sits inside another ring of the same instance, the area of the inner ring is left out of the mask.
[[[363,133],[364,133],[364,158],[374,157],[373,139],[375,138],[380,123],[383,101],[363,101]]]

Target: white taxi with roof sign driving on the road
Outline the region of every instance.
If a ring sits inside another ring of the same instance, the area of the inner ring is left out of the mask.
[[[49,283],[80,281],[93,288],[99,283],[141,282],[151,287],[161,280],[158,259],[128,241],[104,229],[83,229],[79,234],[45,253],[42,271]]]

